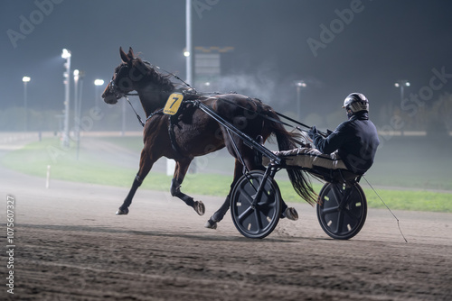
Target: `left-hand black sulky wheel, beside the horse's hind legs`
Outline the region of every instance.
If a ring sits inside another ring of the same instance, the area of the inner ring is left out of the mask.
[[[249,238],[266,237],[277,226],[281,214],[281,195],[273,178],[266,180],[259,199],[255,201],[263,178],[263,171],[251,171],[239,178],[232,189],[232,221],[237,230]]]

